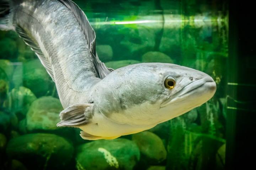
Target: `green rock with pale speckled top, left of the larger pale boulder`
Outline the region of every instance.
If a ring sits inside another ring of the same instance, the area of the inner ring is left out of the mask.
[[[22,86],[12,89],[10,92],[10,97],[10,108],[16,114],[20,113],[21,115],[19,115],[19,117],[22,118],[26,116],[31,103],[36,100],[36,96],[33,94],[33,92],[30,89]]]

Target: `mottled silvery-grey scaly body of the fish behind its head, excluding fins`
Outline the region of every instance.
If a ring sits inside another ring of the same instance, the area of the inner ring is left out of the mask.
[[[52,64],[54,81],[63,107],[86,103],[96,78],[81,28],[68,8],[56,0],[25,0],[14,8],[13,24],[38,42]]]

